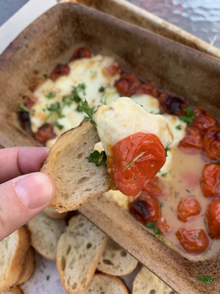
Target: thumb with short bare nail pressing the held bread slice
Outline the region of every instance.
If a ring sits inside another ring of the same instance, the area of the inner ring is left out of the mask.
[[[30,173],[0,185],[0,241],[43,211],[56,194],[53,179]]]

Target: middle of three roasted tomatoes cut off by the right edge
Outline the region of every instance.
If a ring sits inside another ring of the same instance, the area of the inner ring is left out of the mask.
[[[205,197],[220,198],[220,166],[218,164],[209,163],[204,166],[200,186]]]

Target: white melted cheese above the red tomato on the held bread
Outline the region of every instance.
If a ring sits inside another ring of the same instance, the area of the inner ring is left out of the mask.
[[[147,112],[128,97],[119,98],[109,105],[100,105],[93,119],[107,155],[117,142],[138,132],[155,134],[164,148],[173,140],[172,130],[163,116]]]

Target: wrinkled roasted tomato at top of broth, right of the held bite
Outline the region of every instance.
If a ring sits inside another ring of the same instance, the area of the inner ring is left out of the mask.
[[[186,135],[178,147],[187,154],[197,154],[202,150],[202,134],[192,127],[186,128]]]

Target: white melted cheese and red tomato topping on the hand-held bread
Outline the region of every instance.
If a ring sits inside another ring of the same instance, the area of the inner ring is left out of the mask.
[[[172,130],[163,116],[149,113],[128,97],[100,105],[93,120],[116,188],[136,196],[163,167]]]

